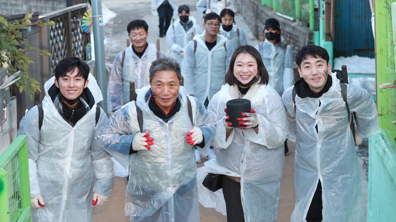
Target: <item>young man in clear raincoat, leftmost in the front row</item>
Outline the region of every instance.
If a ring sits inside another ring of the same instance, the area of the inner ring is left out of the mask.
[[[42,103],[20,122],[18,134],[28,139],[33,222],[92,222],[92,204],[107,201],[112,189],[113,162],[94,140],[107,116],[89,70],[77,57],[62,59]]]

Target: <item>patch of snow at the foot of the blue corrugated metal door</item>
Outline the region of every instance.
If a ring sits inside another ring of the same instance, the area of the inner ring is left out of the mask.
[[[338,57],[334,59],[334,66],[332,69],[341,70],[342,65],[347,65],[347,71],[349,73],[365,73],[375,74],[375,58],[360,57],[353,55],[350,57]]]

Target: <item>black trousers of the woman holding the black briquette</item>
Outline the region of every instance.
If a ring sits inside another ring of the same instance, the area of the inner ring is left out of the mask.
[[[241,183],[223,175],[223,196],[226,201],[227,222],[245,222],[241,201]]]

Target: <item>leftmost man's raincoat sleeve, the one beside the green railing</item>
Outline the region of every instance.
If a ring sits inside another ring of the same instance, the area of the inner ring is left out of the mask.
[[[18,135],[27,135],[28,143],[28,161],[29,161],[29,180],[30,180],[30,196],[35,197],[41,195],[39,181],[37,176],[37,159],[39,158],[39,110],[34,106],[22,118],[19,123]]]

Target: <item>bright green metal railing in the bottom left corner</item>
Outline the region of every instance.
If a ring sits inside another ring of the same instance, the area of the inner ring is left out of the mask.
[[[0,221],[31,222],[26,135],[18,136],[0,155]]]

